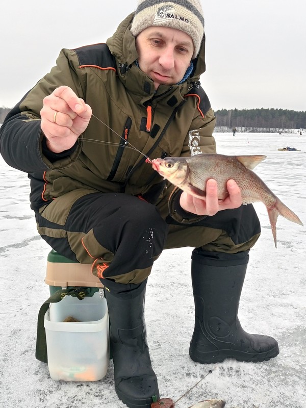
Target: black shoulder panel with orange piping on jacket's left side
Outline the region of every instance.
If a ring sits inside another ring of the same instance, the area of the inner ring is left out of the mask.
[[[75,48],[74,51],[78,55],[80,66],[94,65],[100,68],[116,68],[115,58],[104,43],[86,45]]]

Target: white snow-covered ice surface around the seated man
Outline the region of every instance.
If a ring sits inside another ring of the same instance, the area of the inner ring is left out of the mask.
[[[264,154],[255,171],[306,225],[306,136],[216,134],[218,153]],[[301,151],[278,151],[290,146]],[[97,382],[63,382],[35,360],[36,322],[48,297],[44,284],[47,244],[36,232],[26,174],[0,157],[0,406],[1,408],[124,408],[113,385],[113,365]],[[174,401],[202,378],[176,408],[208,398],[226,408],[306,406],[306,228],[279,217],[274,247],[266,208],[256,205],[262,235],[250,252],[240,320],[251,333],[279,342],[264,363],[194,363],[188,354],[194,323],[191,248],[166,250],[156,261],[146,296],[147,336],[161,397]],[[212,370],[212,373],[209,373]],[[207,376],[206,376],[207,375]]]

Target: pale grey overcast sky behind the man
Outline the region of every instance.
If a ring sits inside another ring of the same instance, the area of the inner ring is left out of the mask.
[[[201,0],[213,109],[306,110],[306,3]],[[5,0],[0,8],[0,107],[13,107],[61,48],[105,42],[136,0]]]

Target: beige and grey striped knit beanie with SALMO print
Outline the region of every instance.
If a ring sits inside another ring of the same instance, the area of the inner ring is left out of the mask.
[[[200,0],[138,0],[131,33],[136,37],[144,29],[152,26],[184,31],[193,40],[192,58],[195,58],[204,34]]]

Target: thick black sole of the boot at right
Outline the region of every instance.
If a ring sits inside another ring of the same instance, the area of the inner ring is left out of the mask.
[[[273,359],[278,353],[278,346],[264,353],[253,354],[237,350],[218,350],[216,352],[199,353],[193,347],[189,349],[190,358],[194,362],[201,364],[222,363],[225,359],[235,359],[237,361],[245,361],[246,363],[260,363]]]

